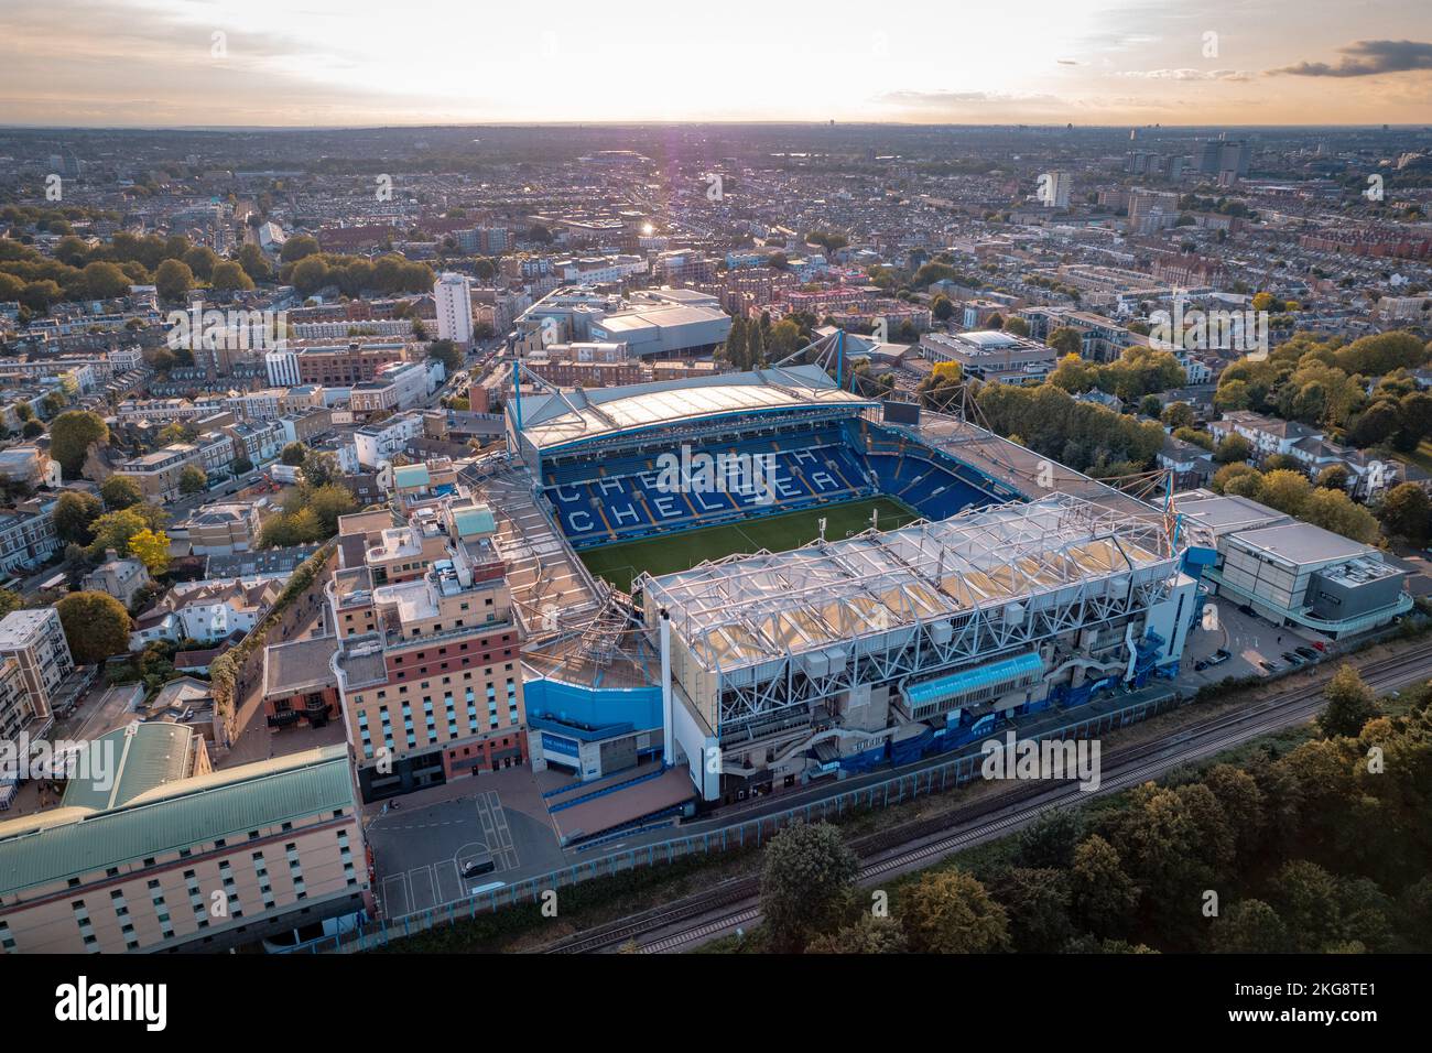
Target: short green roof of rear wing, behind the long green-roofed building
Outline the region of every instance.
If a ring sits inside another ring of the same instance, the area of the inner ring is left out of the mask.
[[[66,808],[103,812],[129,804],[140,794],[189,775],[196,732],[166,721],[130,723],[86,744],[82,766],[87,778],[64,784]]]

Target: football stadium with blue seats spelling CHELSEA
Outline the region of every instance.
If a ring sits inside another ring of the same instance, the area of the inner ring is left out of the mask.
[[[821,365],[514,395],[464,480],[498,514],[534,766],[632,799],[573,841],[1177,672],[1199,550],[961,417]]]

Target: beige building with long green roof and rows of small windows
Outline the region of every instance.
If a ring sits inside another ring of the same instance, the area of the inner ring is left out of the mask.
[[[110,789],[0,824],[0,943],[21,954],[294,946],[372,908],[347,751],[211,771],[203,739],[140,723],[92,742]]]

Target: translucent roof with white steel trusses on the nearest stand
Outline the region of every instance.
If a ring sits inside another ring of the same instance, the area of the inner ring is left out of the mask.
[[[646,579],[649,609],[706,669],[739,669],[916,623],[949,620],[1134,573],[1164,574],[1174,556],[1156,521],[1070,494],[962,511],[785,553],[730,556]]]

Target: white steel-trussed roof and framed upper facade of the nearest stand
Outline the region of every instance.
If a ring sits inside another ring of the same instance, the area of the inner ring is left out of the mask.
[[[1070,494],[793,552],[643,576],[716,698],[723,742],[862,685],[918,679],[1118,620],[1163,599],[1177,553],[1158,520]],[[692,685],[683,685],[690,695]]]

